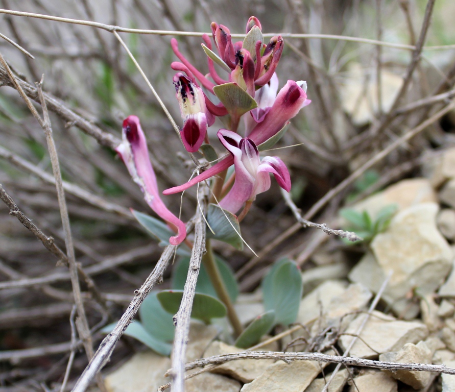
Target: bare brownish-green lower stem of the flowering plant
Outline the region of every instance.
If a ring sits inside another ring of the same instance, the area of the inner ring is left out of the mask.
[[[229,294],[221,277],[217,262],[215,261],[215,258],[213,256],[213,251],[209,239],[207,239],[205,242],[205,249],[206,253],[202,257],[202,262],[204,263],[204,266],[207,269],[208,276],[210,277],[210,281],[215,291],[217,292],[218,297],[220,298],[221,302],[223,302],[226,306],[229,322],[231,323],[232,328],[234,329],[235,337],[237,337],[243,332],[242,324],[240,320],[238,320],[237,312],[235,311],[234,305],[232,304],[231,299],[229,298]]]

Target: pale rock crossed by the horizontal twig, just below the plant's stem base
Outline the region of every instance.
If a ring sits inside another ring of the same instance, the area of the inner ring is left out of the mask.
[[[239,349],[238,347],[226,345],[221,341],[213,341],[205,351],[204,357],[239,353],[243,351],[244,350]],[[260,361],[255,359],[229,361],[218,366],[213,370],[213,372],[226,374],[238,381],[251,382],[260,374],[262,374],[267,369],[267,366],[273,362],[273,359],[264,359]]]

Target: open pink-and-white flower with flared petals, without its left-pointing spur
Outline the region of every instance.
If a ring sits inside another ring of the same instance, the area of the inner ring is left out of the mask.
[[[291,178],[283,161],[278,157],[259,158],[256,144],[226,129],[218,131],[218,137],[234,159],[235,182],[220,206],[236,213],[245,202],[253,201],[256,195],[270,188],[270,175],[275,176],[279,186],[291,190]]]

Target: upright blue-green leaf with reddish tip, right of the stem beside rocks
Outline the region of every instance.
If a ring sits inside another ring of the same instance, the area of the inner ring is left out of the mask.
[[[294,323],[302,298],[302,276],[297,265],[291,260],[280,260],[264,281],[262,295],[266,310],[275,311],[275,324]]]

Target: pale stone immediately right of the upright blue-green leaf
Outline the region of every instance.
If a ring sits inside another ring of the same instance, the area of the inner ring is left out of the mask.
[[[297,323],[308,324],[323,313],[330,301],[345,291],[347,284],[338,280],[327,280],[313,291],[306,294],[300,301]]]

